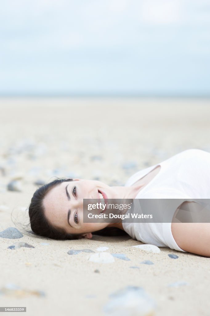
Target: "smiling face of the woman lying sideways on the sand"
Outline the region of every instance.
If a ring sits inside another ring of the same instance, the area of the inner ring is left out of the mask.
[[[100,181],[74,179],[62,182],[44,197],[44,215],[55,228],[63,228],[68,234],[81,234],[91,238],[91,232],[109,225],[109,223],[83,223],[83,199],[99,199],[98,191],[102,192],[105,198],[117,197],[113,187]]]

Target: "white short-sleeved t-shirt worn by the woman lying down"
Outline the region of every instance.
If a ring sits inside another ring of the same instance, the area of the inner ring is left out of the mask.
[[[210,153],[200,149],[188,149],[157,165],[143,169],[133,174],[125,183],[131,186],[143,178],[157,166],[161,166],[155,177],[140,190],[136,199],[178,199],[167,212],[170,221],[167,223],[127,223],[122,226],[133,239],[145,244],[184,251],[173,238],[171,223],[173,215],[180,205],[180,199],[210,198]]]

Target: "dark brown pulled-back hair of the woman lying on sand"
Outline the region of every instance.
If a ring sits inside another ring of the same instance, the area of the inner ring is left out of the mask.
[[[44,216],[43,199],[46,194],[54,188],[56,185],[62,182],[73,181],[73,179],[55,179],[54,181],[42,185],[38,188],[31,199],[31,204],[29,206],[29,217],[31,223],[31,229],[36,235],[48,237],[55,240],[66,240],[66,239],[80,239],[82,235],[80,234],[67,234],[62,228],[53,227]],[[115,227],[106,227],[92,234],[106,235],[106,236],[116,236],[126,234],[123,230]]]

